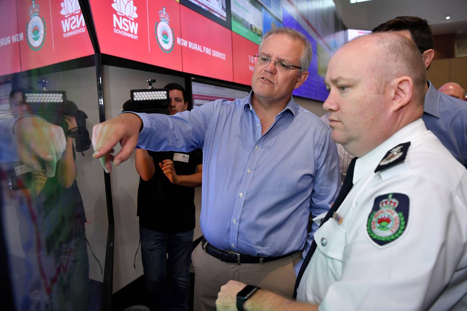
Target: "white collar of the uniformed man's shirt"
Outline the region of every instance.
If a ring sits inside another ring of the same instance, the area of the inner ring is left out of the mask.
[[[353,183],[357,183],[370,170],[375,170],[389,149],[396,147],[398,143],[419,137],[424,131],[426,131],[425,123],[420,118],[401,128],[378,147],[358,158],[355,162]]]

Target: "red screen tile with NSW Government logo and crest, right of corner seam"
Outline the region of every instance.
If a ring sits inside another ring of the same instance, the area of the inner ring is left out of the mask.
[[[91,0],[102,53],[182,71],[180,4],[173,0]]]

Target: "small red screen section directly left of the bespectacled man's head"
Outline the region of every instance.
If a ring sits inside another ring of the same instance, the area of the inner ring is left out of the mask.
[[[259,45],[232,33],[233,46],[233,82],[251,85],[251,75],[255,68],[254,56]]]

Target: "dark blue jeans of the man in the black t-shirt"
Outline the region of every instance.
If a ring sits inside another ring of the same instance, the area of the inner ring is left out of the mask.
[[[162,233],[140,226],[140,239],[144,277],[157,310],[188,310],[193,230]]]

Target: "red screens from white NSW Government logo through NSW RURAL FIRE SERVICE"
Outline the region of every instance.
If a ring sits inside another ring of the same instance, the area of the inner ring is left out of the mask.
[[[231,31],[174,0],[91,0],[102,53],[233,81]]]

